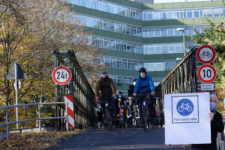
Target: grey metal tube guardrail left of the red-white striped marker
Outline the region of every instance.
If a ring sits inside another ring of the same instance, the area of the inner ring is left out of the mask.
[[[46,119],[66,119],[67,121],[67,116],[68,112],[66,111],[66,117],[41,117],[41,105],[57,105],[57,104],[65,104],[65,102],[48,102],[48,103],[29,103],[29,104],[20,104],[20,105],[10,105],[10,106],[4,106],[0,107],[0,110],[5,109],[5,116],[6,120],[5,123],[0,124],[0,127],[6,127],[6,140],[9,140],[9,125],[10,124],[16,124],[16,123],[23,123],[23,122],[28,122],[28,121],[35,121],[39,120],[39,131],[41,131],[41,120],[46,120]],[[35,106],[38,105],[38,118],[31,118],[31,119],[25,119],[25,120],[19,120],[19,121],[11,121],[9,122],[9,115],[8,115],[8,109],[9,108],[14,108],[14,107],[23,107],[23,106]],[[67,109],[66,109],[67,110]],[[67,123],[68,124],[68,123]],[[68,125],[67,125],[68,126]],[[67,128],[68,130],[68,128]]]

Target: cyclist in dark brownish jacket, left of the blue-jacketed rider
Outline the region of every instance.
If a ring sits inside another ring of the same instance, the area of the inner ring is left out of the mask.
[[[99,99],[103,108],[103,112],[105,111],[104,103],[108,100],[110,108],[112,110],[112,117],[113,120],[115,119],[115,103],[113,97],[116,96],[116,86],[113,83],[113,80],[108,77],[106,71],[102,71],[101,78],[97,81],[95,86],[95,94],[96,94],[96,101]],[[103,113],[104,114],[104,113]]]

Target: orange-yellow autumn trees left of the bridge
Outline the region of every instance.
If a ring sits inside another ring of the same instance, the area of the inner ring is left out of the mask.
[[[91,72],[96,70],[93,65],[96,49],[66,3],[58,0],[1,0],[0,8],[0,107],[15,104],[14,80],[6,79],[14,61],[26,74],[18,92],[19,104],[54,101],[53,50],[74,51],[85,74],[89,78],[94,76]],[[24,114],[25,110],[20,113]]]

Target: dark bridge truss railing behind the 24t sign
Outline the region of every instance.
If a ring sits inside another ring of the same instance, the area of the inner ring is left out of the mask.
[[[55,67],[67,66],[72,73],[72,80],[67,85],[56,85],[56,100],[64,101],[65,95],[72,95],[74,102],[75,127],[96,127],[97,109],[95,95],[84,75],[82,68],[76,58],[75,52],[70,50],[53,51],[55,56]],[[56,116],[64,112],[62,106],[56,107]],[[56,128],[61,130],[64,123],[60,120],[56,123]]]

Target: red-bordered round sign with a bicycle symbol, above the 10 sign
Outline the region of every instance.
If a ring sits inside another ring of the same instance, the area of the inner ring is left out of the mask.
[[[211,63],[216,57],[215,50],[209,46],[201,46],[197,51],[197,58],[202,63]]]

